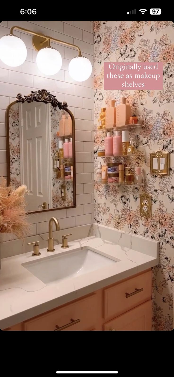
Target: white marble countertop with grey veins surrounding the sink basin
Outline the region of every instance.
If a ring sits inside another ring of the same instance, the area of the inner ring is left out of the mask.
[[[122,238],[123,233],[120,234],[120,238]],[[5,329],[23,322],[158,264],[157,250],[154,250],[154,253],[150,251],[151,255],[148,255],[145,254],[145,251],[133,250],[132,245],[129,248],[119,245],[119,240],[116,242],[117,244],[114,244],[92,236],[69,242],[70,247],[65,251],[60,245],[55,245],[53,254],[63,255],[76,248],[81,250],[82,247],[88,246],[99,254],[118,259],[119,262],[49,285],[41,282],[21,265],[36,260],[31,252],[2,259],[0,328]],[[156,247],[156,249],[158,248]],[[50,257],[46,248],[41,250],[41,256],[37,257],[37,261],[43,257]]]

